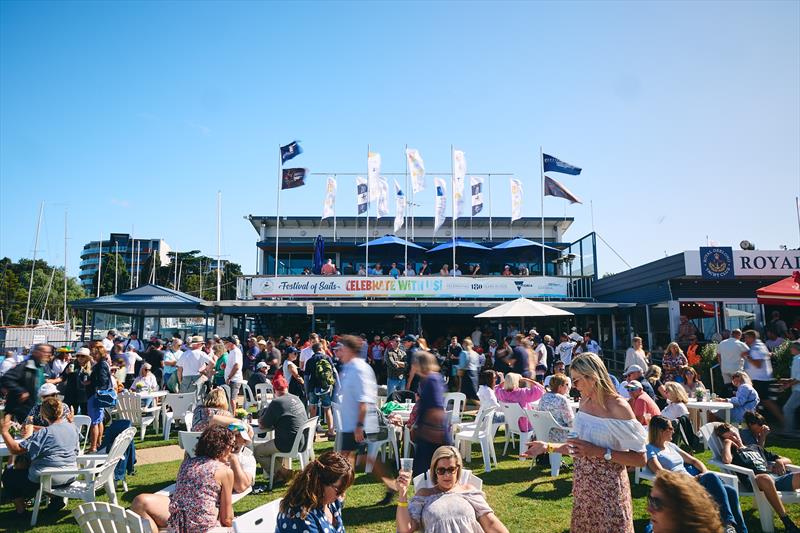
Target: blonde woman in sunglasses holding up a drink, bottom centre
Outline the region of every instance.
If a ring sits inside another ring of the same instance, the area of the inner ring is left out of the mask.
[[[411,472],[401,471],[397,479],[397,531],[412,533],[508,533],[506,526],[486,503],[483,492],[459,481],[463,464],[453,446],[438,448],[431,460],[433,488],[420,489],[408,501]]]

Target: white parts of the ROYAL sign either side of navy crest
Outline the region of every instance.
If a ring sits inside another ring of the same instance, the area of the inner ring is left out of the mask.
[[[687,276],[701,276],[702,262],[699,250],[683,252]],[[800,271],[800,250],[734,250],[733,275],[791,276]]]

